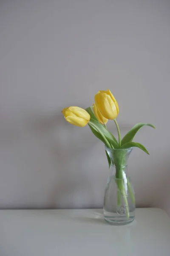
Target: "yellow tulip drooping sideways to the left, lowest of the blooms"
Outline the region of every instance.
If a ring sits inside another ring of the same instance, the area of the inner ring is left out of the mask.
[[[79,127],[84,127],[90,120],[89,113],[79,107],[63,108],[62,114],[67,122]]]

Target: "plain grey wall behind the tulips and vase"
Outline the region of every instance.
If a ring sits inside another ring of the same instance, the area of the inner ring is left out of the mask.
[[[102,207],[103,145],[61,110],[110,88],[122,135],[156,125],[129,159],[137,206],[170,213],[169,27],[168,0],[0,1],[0,208]]]

